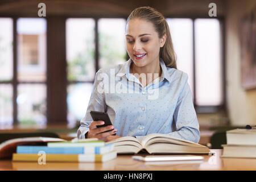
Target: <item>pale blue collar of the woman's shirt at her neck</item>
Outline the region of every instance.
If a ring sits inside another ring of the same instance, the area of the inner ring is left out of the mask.
[[[166,78],[169,82],[171,82],[170,74],[168,73],[166,64],[164,64],[164,61],[162,58],[160,58],[160,67],[162,69],[162,75],[160,77],[160,80]],[[127,60],[125,63],[123,63],[121,69],[118,71],[117,76],[122,77],[123,75],[126,75],[126,77],[129,76],[130,73],[130,65],[133,61],[131,59]]]

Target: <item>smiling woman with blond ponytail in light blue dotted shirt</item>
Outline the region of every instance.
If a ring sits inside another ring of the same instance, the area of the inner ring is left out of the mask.
[[[188,75],[176,69],[166,19],[151,7],[139,7],[129,15],[125,31],[130,59],[114,70],[96,73],[77,137],[109,141],[134,136],[141,140],[147,134],[162,133],[198,143],[199,123]],[[113,125],[97,127],[104,122],[92,121],[90,110],[107,112]]]

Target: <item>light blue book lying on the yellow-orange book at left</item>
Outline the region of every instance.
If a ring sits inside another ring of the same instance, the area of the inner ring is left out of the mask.
[[[46,154],[105,154],[114,150],[113,144],[106,144],[101,147],[48,147],[48,146],[17,146],[17,154],[38,154],[44,151]]]

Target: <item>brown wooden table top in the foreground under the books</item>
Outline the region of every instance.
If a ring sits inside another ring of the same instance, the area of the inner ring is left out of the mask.
[[[215,155],[203,155],[204,161],[200,163],[151,163],[147,164],[131,158],[132,155],[118,155],[116,159],[105,163],[53,163],[38,164],[37,162],[12,162],[11,160],[0,160],[0,170],[97,170],[97,171],[191,171],[191,170],[256,170],[256,159],[245,158],[221,158],[222,150],[211,150]]]

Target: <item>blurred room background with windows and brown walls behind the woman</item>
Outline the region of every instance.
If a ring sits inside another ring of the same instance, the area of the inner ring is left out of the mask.
[[[38,16],[41,2],[46,17]],[[216,17],[208,14],[210,3]],[[211,147],[217,131],[255,126],[255,0],[6,0],[0,1],[1,132],[76,137],[95,73],[129,59],[126,18],[140,6],[167,19],[177,69],[189,76],[200,143]],[[241,26],[246,17],[253,23]]]

